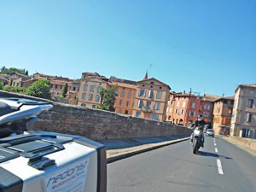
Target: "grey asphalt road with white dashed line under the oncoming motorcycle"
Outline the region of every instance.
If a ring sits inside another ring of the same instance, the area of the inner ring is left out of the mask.
[[[255,192],[256,157],[206,137],[200,154],[186,141],[108,164],[108,192],[172,191]]]

